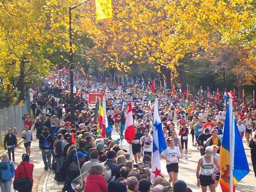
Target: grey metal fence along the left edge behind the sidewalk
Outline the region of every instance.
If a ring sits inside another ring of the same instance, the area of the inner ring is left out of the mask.
[[[0,145],[3,145],[4,136],[9,128],[16,127],[19,133],[23,130],[22,117],[24,114],[30,114],[29,95],[24,100],[22,107],[14,105],[0,109]]]

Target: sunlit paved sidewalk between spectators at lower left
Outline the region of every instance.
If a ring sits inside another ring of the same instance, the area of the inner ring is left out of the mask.
[[[15,162],[13,162],[15,168],[17,168],[17,165],[21,163],[21,157],[22,154],[25,153],[26,150],[24,148],[24,145],[19,145],[15,150]],[[40,181],[40,178],[42,176],[42,173],[44,172],[44,165],[42,160],[41,151],[38,147],[38,140],[36,139],[36,134],[33,134],[33,141],[31,143],[31,156],[30,156],[30,162],[34,164],[34,170],[33,170],[33,189],[32,191],[37,191],[38,183]],[[0,190],[1,191],[1,190]],[[11,186],[11,191],[14,192],[13,185]],[[4,191],[2,191],[4,192]]]

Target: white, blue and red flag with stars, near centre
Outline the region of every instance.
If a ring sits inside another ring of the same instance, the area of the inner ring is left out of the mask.
[[[160,155],[167,148],[161,120],[158,113],[158,98],[154,104],[153,155],[151,164],[151,182],[161,176]]]

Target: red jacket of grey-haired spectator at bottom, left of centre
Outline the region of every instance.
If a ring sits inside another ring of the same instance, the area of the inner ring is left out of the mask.
[[[84,180],[84,192],[107,192],[107,182],[104,175],[91,175],[89,174]]]

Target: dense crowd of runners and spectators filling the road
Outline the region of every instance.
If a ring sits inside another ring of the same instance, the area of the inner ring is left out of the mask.
[[[67,83],[68,84],[68,83]],[[75,122],[72,123],[68,86],[62,89],[49,83],[37,89],[32,101],[32,116],[24,115],[24,131],[9,129],[4,138],[8,154],[4,154],[0,169],[1,189],[10,191],[12,178],[20,181],[29,178],[33,185],[33,164],[29,163],[31,142],[38,142],[45,170],[55,173],[55,180],[63,182],[62,191],[192,191],[178,180],[179,161],[188,159],[188,142],[201,154],[195,170],[198,187],[215,191],[220,178],[219,152],[225,120],[224,100],[214,100],[194,93],[185,95],[171,90],[151,92],[140,83],[82,83],[83,90],[75,96]],[[90,91],[89,91],[90,90]],[[61,92],[60,92],[61,91]],[[95,111],[89,107],[88,93],[104,93],[107,118],[112,131],[102,137],[95,121]],[[159,116],[168,148],[161,154],[166,161],[169,178],[158,176],[151,180],[152,109],[155,97],[159,98]],[[135,138],[131,149],[121,147],[121,107],[124,111],[132,100]],[[253,104],[237,101],[235,119],[240,135],[252,149],[252,163],[256,177],[256,110]],[[35,120],[35,124],[34,124]],[[35,132],[36,138],[33,138]],[[22,163],[14,168],[16,137],[24,139],[26,153]],[[73,144],[73,137],[75,144]],[[33,151],[32,151],[33,152]],[[12,160],[12,161],[11,161]],[[7,174],[8,173],[8,174]],[[83,182],[81,182],[81,180]],[[18,182],[16,182],[18,183]],[[16,184],[18,185],[18,184]]]

